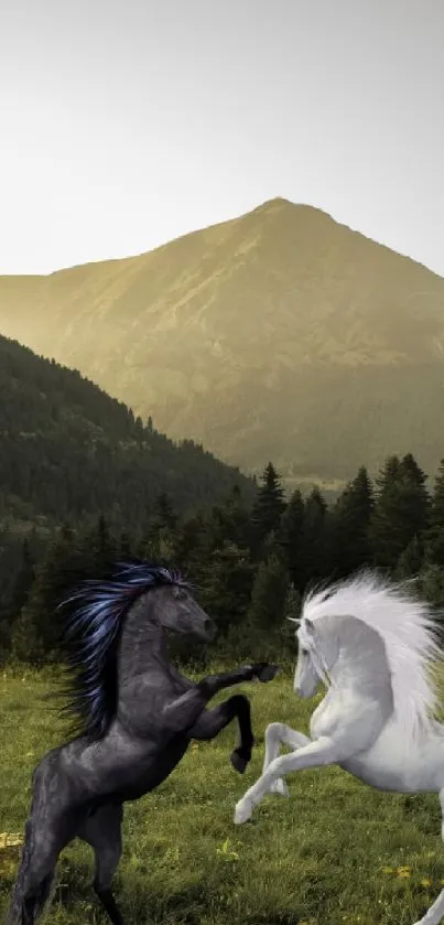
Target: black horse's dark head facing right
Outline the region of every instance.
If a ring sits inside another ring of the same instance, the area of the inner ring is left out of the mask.
[[[183,584],[164,584],[153,591],[156,616],[161,626],[175,633],[197,636],[209,643],[216,635],[216,624],[205,613]]]

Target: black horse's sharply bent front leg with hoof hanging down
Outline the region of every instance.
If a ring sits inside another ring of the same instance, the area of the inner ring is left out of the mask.
[[[248,762],[251,759],[251,749],[255,744],[255,736],[251,728],[250,701],[243,693],[235,693],[218,707],[205,710],[198,718],[195,725],[188,731],[189,739],[209,740],[225,729],[231,720],[237,717],[239,723],[240,742],[231,752],[230,761],[239,774],[243,774]]]

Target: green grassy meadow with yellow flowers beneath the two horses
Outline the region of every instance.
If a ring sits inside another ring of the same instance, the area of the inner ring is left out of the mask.
[[[0,921],[19,852],[1,846],[23,830],[35,762],[62,741],[51,685],[0,676]],[[258,740],[243,778],[229,764],[232,725],[194,743],[158,790],[126,807],[116,878],[126,923],[412,925],[444,884],[437,798],[382,794],[320,768],[288,777],[291,799],[268,796],[251,822],[235,826],[235,804],[260,773],[267,723],[306,731],[314,707],[294,698],[290,675],[239,689],[251,697]],[[58,864],[48,925],[105,922],[91,873],[89,849],[74,842]]]

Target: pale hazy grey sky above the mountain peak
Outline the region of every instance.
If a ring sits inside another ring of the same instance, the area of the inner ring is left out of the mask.
[[[444,276],[444,0],[0,0],[0,272],[274,196]]]

